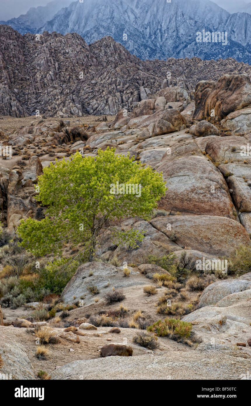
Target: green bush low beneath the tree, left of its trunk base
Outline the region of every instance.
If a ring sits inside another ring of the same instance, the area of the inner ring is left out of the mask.
[[[65,258],[47,263],[39,270],[38,287],[49,289],[49,293],[61,294],[64,287],[75,274],[79,263]]]

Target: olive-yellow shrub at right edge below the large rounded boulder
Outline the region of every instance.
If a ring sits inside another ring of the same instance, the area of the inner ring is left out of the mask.
[[[228,274],[241,275],[246,272],[251,272],[251,246],[241,245],[230,257]]]

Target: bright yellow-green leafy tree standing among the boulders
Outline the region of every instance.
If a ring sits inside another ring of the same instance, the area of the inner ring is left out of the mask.
[[[17,229],[21,246],[34,255],[59,253],[66,243],[82,243],[84,259],[92,261],[101,229],[127,216],[149,219],[166,190],[162,173],[133,162],[129,153],[115,155],[109,147],[95,158],[77,152],[43,172],[36,200],[47,206],[45,218],[21,220]],[[135,248],[144,235],[114,227],[113,237],[117,244]]]

